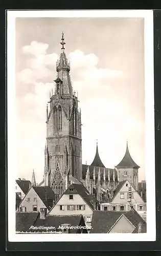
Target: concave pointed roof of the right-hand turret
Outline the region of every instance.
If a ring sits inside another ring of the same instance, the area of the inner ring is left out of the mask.
[[[121,162],[116,166],[117,168],[121,168],[121,167],[136,167],[136,168],[140,168],[139,165],[137,165],[132,157],[130,156],[129,153],[129,149],[128,149],[128,143],[126,145],[126,152],[125,152],[125,156],[123,157],[123,159],[121,160]]]

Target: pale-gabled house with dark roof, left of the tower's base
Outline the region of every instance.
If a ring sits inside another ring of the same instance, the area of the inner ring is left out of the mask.
[[[54,191],[49,186],[33,186],[20,202],[17,211],[40,211],[45,208],[47,212],[55,203]]]

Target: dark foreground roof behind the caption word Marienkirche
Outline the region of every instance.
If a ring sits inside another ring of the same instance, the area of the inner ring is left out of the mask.
[[[60,225],[70,224],[71,226],[85,226],[84,219],[82,215],[65,215],[65,216],[58,216],[58,215],[47,215],[46,218],[37,219],[35,226],[55,226],[56,230],[60,231],[58,227]],[[77,233],[79,229],[70,229],[70,233]],[[35,231],[35,230],[32,230]],[[43,229],[38,230],[40,232],[45,231]],[[51,231],[51,230],[49,230]],[[46,231],[45,231],[46,232]],[[87,232],[87,231],[86,231]]]

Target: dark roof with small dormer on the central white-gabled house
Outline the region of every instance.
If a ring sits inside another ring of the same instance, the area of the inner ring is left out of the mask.
[[[73,190],[71,191],[70,189],[73,188]],[[89,194],[89,191],[85,188],[85,186],[83,186],[83,184],[71,184],[64,192],[64,194],[68,194],[68,195],[74,195],[74,194],[78,194],[80,195],[84,201],[90,206],[91,209],[94,209],[93,204],[91,203],[91,201],[94,202],[98,202],[98,200],[93,196]]]

